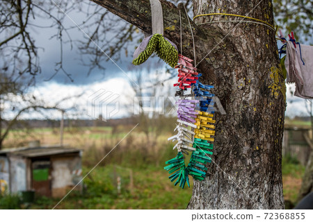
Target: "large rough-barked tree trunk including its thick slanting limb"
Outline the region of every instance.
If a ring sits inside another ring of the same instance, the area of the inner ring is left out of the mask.
[[[152,32],[149,0],[93,1],[143,31]],[[167,1],[161,3],[164,34],[178,48],[181,11],[183,54],[193,58],[182,4],[177,8]],[[193,1],[194,15],[213,12],[248,14],[273,24],[273,8],[268,0]],[[213,162],[208,165],[207,178],[194,182],[187,208],[282,209],[281,148],[286,99],[275,32],[251,23],[202,24],[209,21],[210,17],[199,17],[191,22],[196,59],[201,61],[197,68],[204,75],[202,81],[215,86],[214,93],[227,114],[216,114]]]

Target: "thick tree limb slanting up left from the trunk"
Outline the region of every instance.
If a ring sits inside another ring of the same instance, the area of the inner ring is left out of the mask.
[[[91,0],[118,15],[125,21],[141,28],[141,30],[146,33],[152,33],[152,19],[151,19],[151,6],[149,0]],[[172,42],[177,45],[180,51],[180,24],[179,24],[179,10],[182,16],[182,50],[184,56],[193,58],[193,40],[191,37],[191,29],[195,37],[195,54],[197,56],[197,61],[200,62],[202,58],[200,55],[206,55],[208,49],[213,49],[218,40],[224,37],[223,31],[219,28],[200,28],[197,26],[190,18],[191,28],[188,24],[188,17],[184,10],[184,5],[179,3],[176,7],[173,3],[165,0],[161,0],[163,8],[163,24],[164,24],[164,36],[168,37]],[[225,39],[225,42],[227,42]],[[224,49],[225,50],[225,49]],[[225,52],[225,51],[224,51]],[[182,52],[180,52],[182,53]],[[214,55],[215,52],[211,54]],[[234,52],[233,52],[234,53]],[[198,58],[199,56],[199,58]],[[201,71],[206,70],[205,62],[199,65]]]

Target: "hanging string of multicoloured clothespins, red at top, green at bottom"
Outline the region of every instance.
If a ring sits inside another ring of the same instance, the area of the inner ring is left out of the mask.
[[[177,101],[177,135],[168,138],[168,140],[177,141],[174,148],[177,148],[177,156],[168,160],[164,167],[172,175],[171,181],[176,180],[174,185],[184,188],[187,183],[190,187],[188,175],[193,176],[195,180],[204,180],[207,168],[205,164],[211,162],[212,149],[214,142],[214,94],[209,92],[213,89],[211,85],[203,85],[199,82],[196,68],[191,62],[193,60],[186,56],[178,55],[178,87],[176,96],[180,96]],[[186,94],[187,89],[193,87],[194,99],[188,99],[192,94]],[[191,153],[191,159],[186,167],[184,164],[184,154]]]

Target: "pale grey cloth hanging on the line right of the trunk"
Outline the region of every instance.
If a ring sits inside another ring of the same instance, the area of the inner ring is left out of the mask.
[[[295,96],[313,99],[313,46],[287,41],[284,66],[287,70],[287,83],[296,83]],[[300,56],[302,56],[301,61]]]

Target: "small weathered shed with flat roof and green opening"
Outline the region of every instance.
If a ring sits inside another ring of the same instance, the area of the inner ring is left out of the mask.
[[[42,196],[63,197],[81,180],[77,148],[35,146],[0,151],[0,192],[34,190]],[[75,187],[81,191],[81,183]]]

